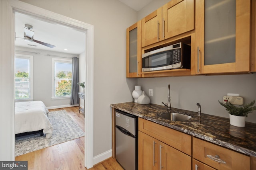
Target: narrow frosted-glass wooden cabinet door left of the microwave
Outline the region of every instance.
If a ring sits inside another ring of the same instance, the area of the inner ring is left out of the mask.
[[[140,77],[141,21],[126,29],[126,77]]]

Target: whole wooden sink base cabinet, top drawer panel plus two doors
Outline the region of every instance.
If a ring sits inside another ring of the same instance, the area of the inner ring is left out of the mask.
[[[180,151],[185,150],[191,153],[190,135],[145,119],[139,118],[138,124],[139,170],[191,170],[191,156]],[[150,134],[146,134],[147,131]],[[165,135],[162,136],[161,132]],[[186,143],[188,143],[186,149],[181,147]],[[180,150],[174,148],[175,146]]]

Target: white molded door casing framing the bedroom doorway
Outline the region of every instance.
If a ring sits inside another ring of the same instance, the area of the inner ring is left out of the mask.
[[[0,160],[15,160],[14,135],[14,39],[15,12],[36,16],[49,22],[80,29],[86,33],[85,83],[85,162],[87,169],[93,167],[93,113],[94,113],[94,26],[54,12],[38,8],[18,0],[0,0]]]

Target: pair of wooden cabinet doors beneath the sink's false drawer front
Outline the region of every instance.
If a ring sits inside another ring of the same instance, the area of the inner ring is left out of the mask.
[[[191,157],[157,139],[138,133],[139,170],[190,170]]]

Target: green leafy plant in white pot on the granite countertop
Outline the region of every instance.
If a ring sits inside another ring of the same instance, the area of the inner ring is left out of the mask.
[[[256,106],[254,106],[255,100],[250,102],[249,104],[244,104],[243,106],[237,106],[231,104],[230,102],[222,103],[221,106],[224,106],[229,113],[230,125],[245,127],[245,118],[248,117],[248,113],[256,110]]]

